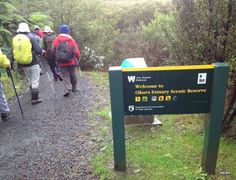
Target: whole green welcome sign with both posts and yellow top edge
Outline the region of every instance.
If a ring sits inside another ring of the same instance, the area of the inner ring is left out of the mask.
[[[215,173],[229,67],[109,69],[115,170],[126,170],[124,116],[209,113],[202,167]]]

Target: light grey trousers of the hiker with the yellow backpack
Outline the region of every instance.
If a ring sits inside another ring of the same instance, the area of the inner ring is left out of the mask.
[[[41,70],[39,64],[23,67],[23,69],[27,76],[29,86],[32,89],[38,89]]]

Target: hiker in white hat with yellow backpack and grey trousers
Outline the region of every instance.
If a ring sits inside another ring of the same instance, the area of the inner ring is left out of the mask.
[[[31,90],[31,104],[41,103],[39,98],[39,79],[40,66],[37,55],[42,55],[44,51],[41,49],[36,39],[30,33],[27,23],[20,23],[17,29],[17,35],[12,40],[13,61],[23,68]]]

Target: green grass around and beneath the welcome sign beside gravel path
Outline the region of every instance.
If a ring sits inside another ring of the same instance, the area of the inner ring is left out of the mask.
[[[107,86],[107,74],[91,72],[91,78]],[[99,78],[100,77],[100,78]],[[101,80],[103,79],[103,80]],[[201,169],[205,115],[158,115],[163,126],[126,126],[124,173],[114,171],[110,107],[95,112],[103,142],[93,157],[93,173],[100,179],[236,179],[236,142],[221,138],[216,175]]]

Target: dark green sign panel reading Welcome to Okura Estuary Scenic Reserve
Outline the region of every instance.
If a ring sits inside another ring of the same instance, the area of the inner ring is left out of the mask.
[[[212,68],[124,71],[124,113],[208,113],[212,74]]]

